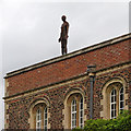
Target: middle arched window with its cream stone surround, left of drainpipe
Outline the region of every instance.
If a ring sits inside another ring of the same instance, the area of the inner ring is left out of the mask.
[[[64,129],[83,128],[86,115],[84,115],[84,95],[81,91],[71,91],[66,95],[63,126]]]

